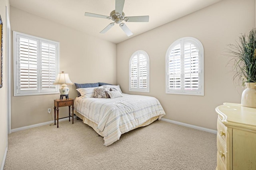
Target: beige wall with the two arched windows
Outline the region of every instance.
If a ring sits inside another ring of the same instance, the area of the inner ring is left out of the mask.
[[[223,0],[188,16],[117,44],[117,83],[124,93],[159,99],[164,118],[216,129],[214,109],[224,102],[240,103],[242,88],[232,81],[227,44],[255,27],[254,0]],[[191,36],[204,46],[204,96],[165,94],[165,55],[175,40]],[[129,59],[142,49],[150,57],[150,93],[129,92]]]

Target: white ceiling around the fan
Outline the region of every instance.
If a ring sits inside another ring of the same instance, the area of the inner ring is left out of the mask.
[[[126,0],[123,10],[126,16],[149,16],[149,22],[125,22],[133,33],[130,37],[118,24],[100,34],[112,20],[84,16],[84,12],[109,16],[115,9],[115,0],[10,0],[10,5],[80,32],[119,43],[219,1]]]

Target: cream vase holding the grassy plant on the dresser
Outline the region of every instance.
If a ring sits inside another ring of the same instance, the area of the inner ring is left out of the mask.
[[[256,83],[245,83],[245,85],[246,89],[242,93],[241,105],[256,108]]]

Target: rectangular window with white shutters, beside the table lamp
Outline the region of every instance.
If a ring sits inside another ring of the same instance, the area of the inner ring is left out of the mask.
[[[14,96],[59,93],[59,43],[14,32]]]

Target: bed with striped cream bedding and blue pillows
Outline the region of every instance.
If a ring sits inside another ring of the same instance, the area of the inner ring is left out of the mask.
[[[78,97],[74,113],[103,137],[105,146],[119,140],[121,134],[147,126],[165,115],[155,97],[125,94],[119,85],[99,83],[91,87],[91,84],[96,83],[86,87],[75,83]]]

